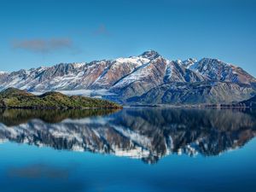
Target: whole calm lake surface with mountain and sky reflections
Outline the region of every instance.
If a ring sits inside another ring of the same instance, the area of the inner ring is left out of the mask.
[[[252,110],[0,110],[1,192],[256,191]]]

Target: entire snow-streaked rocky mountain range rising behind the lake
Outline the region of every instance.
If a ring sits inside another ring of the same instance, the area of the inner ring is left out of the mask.
[[[0,90],[8,87],[100,96],[123,104],[229,103],[256,95],[256,79],[241,67],[208,58],[170,61],[154,50],[109,61],[0,73]]]

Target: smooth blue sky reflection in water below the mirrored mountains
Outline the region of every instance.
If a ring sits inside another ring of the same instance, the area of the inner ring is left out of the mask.
[[[15,143],[0,147],[1,191],[254,191],[256,140],[215,157],[171,155],[155,165],[113,155]]]

